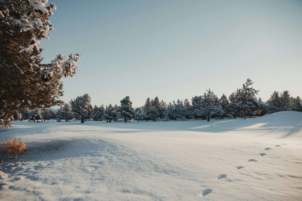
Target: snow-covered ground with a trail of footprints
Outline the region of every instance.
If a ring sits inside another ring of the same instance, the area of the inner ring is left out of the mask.
[[[5,137],[21,137],[28,149],[2,166],[2,200],[302,198],[301,112],[210,122],[15,121]]]

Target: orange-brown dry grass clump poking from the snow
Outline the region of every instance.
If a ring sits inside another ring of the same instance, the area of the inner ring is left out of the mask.
[[[21,141],[21,138],[19,138],[19,140],[17,140],[16,138],[12,140],[8,140],[7,138],[5,138],[0,147],[2,149],[2,154],[7,154],[9,160],[10,154],[14,154],[17,158],[18,154],[20,154],[26,149],[26,144]]]

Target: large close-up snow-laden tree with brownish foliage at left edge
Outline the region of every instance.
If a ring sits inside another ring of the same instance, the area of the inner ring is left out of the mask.
[[[0,126],[8,127],[21,109],[63,103],[61,78],[72,77],[81,55],[61,54],[42,64],[40,41],[53,31],[49,17],[56,9],[46,0],[0,2]],[[13,92],[13,93],[12,93]]]

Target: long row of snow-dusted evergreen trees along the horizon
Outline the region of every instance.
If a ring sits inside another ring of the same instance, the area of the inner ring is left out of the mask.
[[[61,105],[60,109],[55,113],[51,109],[44,108],[41,111],[34,109],[31,112],[27,110],[20,111],[21,120],[30,119],[32,121],[43,119],[48,120],[55,118],[57,121],[65,119],[94,121],[185,121],[187,119],[206,119],[210,118],[246,118],[252,116],[262,116],[278,111],[299,111],[298,104],[300,97],[291,97],[290,93],[285,90],[282,93],[274,91],[268,101],[263,102],[261,98],[256,98],[259,90],[252,87],[252,80],[247,79],[243,86],[230,94],[227,98],[223,94],[220,98],[213,91],[206,90],[203,95],[194,96],[191,102],[188,99],[184,101],[169,102],[159,101],[156,96],[154,99],[147,98],[143,106],[138,108],[132,107],[129,96],[117,104],[92,107],[91,98],[88,94],[78,96],[69,103]]]

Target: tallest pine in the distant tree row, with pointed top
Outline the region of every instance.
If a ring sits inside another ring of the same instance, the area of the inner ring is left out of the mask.
[[[256,94],[258,94],[259,90],[255,90],[252,87],[251,79],[247,79],[246,83],[242,85],[242,89],[240,90],[240,95],[238,97],[239,100],[239,107],[241,111],[243,111],[243,118],[246,118],[246,113],[251,113],[252,111],[259,108],[258,101],[256,98]]]

